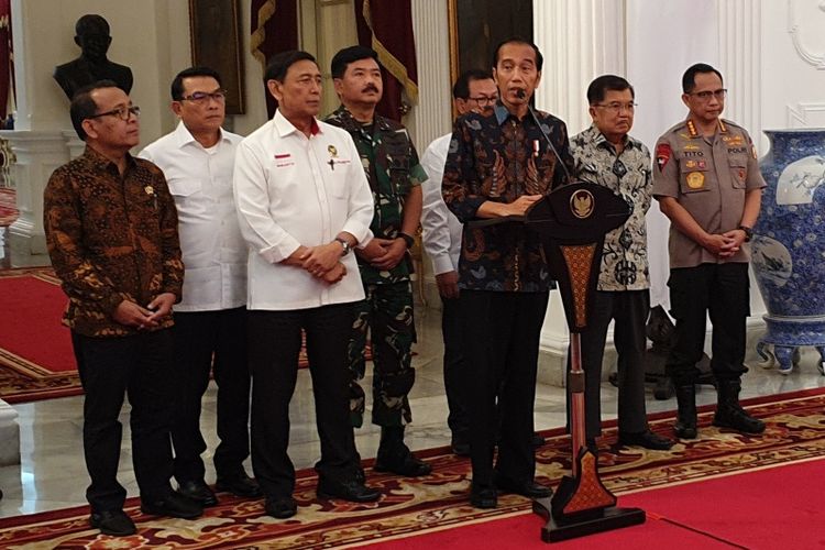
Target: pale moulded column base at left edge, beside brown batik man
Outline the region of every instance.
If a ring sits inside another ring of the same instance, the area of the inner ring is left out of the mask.
[[[43,229],[43,191],[48,177],[68,162],[63,132],[0,131],[16,156],[12,177],[16,185],[20,218],[9,228],[11,246],[29,254],[46,253]]]

